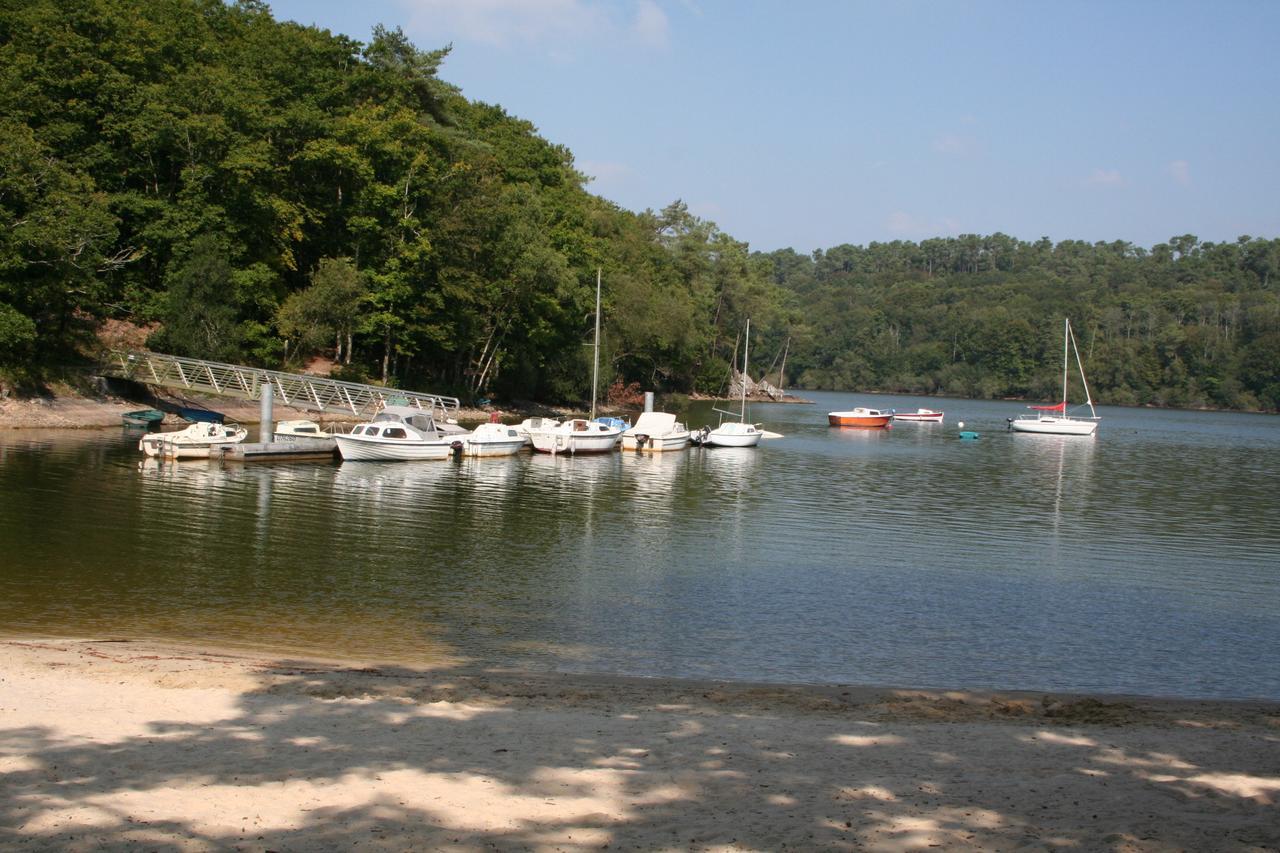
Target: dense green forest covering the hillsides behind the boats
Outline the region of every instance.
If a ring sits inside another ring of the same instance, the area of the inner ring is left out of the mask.
[[[447,49],[241,0],[0,0],[0,380],[163,352],[465,398],[717,393],[751,318],[787,384],[1053,398],[1061,318],[1102,402],[1280,407],[1280,240],[961,236],[751,252],[627,211]],[[774,379],[776,380],[776,379]]]

